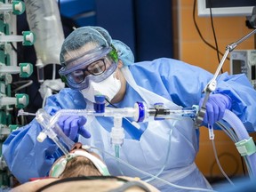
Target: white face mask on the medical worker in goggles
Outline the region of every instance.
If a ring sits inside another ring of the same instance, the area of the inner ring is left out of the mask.
[[[107,100],[112,100],[116,93],[119,92],[121,88],[121,81],[116,79],[116,73],[108,76],[107,79],[100,83],[90,82],[89,87],[80,92],[83,94],[84,98],[95,102],[94,95],[101,94],[105,95]]]

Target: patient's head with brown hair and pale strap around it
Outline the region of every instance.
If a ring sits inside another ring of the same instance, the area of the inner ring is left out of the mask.
[[[72,150],[68,156],[60,156],[50,172],[50,176],[60,179],[100,175],[110,175],[106,164],[96,153],[83,148]]]

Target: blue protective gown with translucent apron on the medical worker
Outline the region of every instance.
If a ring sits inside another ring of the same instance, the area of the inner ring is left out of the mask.
[[[212,74],[202,68],[165,58],[134,63],[122,71],[128,84],[124,100],[116,103],[118,108],[133,107],[136,101],[145,101],[148,105],[163,102],[173,109],[198,105],[204,97],[202,91],[205,85],[212,79]],[[215,92],[225,93],[232,99],[231,110],[248,131],[256,129],[256,92],[246,76],[228,76],[227,73],[219,76]],[[86,105],[80,92],[66,88],[48,98],[45,110],[54,115],[61,108],[84,109],[88,106],[90,104]],[[92,133],[92,137],[80,137],[79,141],[115,154],[109,141],[113,118],[88,118],[85,127]],[[184,117],[182,121],[141,123],[140,130],[124,118],[123,127],[125,139],[120,151],[121,159],[144,172],[159,174],[158,177],[181,186],[211,188],[194,163],[198,151],[198,135],[189,117]],[[52,140],[46,139],[43,143],[36,141],[41,130],[34,119],[30,124],[12,132],[4,141],[4,159],[22,183],[32,177],[47,175],[53,162],[61,156]],[[115,159],[106,154],[100,153],[100,156],[113,175],[150,179],[124,164],[116,163]],[[178,190],[159,180],[150,183],[161,191]]]

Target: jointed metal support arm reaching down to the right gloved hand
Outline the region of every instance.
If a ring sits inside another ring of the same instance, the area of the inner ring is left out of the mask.
[[[220,74],[220,69],[222,68],[222,66],[224,64],[224,61],[228,57],[228,53],[232,52],[236,48],[236,46],[238,44],[241,44],[242,42],[244,42],[247,38],[249,38],[253,34],[256,34],[256,29],[252,30],[251,33],[249,33],[248,35],[242,37],[241,39],[239,39],[235,43],[228,44],[226,46],[226,52],[224,53],[224,55],[222,57],[222,60],[220,60],[220,64],[219,64],[219,66],[218,66],[214,76],[212,77],[212,80],[205,86],[205,88],[203,90],[203,93],[205,92],[205,97],[204,97],[204,101],[203,101],[202,107],[199,108],[198,114],[196,116],[196,121],[195,121],[196,127],[199,127],[203,123],[204,115],[206,113],[206,107],[205,107],[206,106],[206,102],[209,99],[210,93],[213,92],[216,89],[216,87],[217,87],[216,79],[217,79],[217,76]]]

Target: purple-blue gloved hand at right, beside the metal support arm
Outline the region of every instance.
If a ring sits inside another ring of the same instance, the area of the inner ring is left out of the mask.
[[[199,107],[203,105],[204,98],[199,102]],[[206,102],[206,113],[204,115],[204,124],[213,125],[215,122],[223,118],[225,109],[230,109],[232,106],[231,99],[224,94],[210,94]]]

